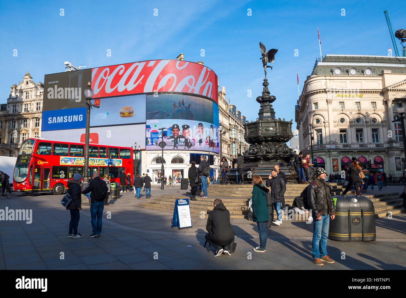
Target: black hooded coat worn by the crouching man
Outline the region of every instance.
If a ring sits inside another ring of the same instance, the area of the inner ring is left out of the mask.
[[[218,245],[227,245],[234,240],[235,233],[230,223],[230,212],[220,203],[209,212],[206,224],[212,242]]]

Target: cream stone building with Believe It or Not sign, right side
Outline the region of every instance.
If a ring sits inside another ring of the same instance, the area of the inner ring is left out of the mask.
[[[406,58],[326,55],[316,60],[296,105],[300,150],[328,174],[348,161],[371,160],[372,170],[402,174],[403,139],[397,119],[406,105]]]

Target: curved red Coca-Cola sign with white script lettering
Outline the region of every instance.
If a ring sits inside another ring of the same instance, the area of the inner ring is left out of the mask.
[[[92,69],[93,98],[146,92],[188,92],[218,103],[217,75],[201,64],[151,60]]]

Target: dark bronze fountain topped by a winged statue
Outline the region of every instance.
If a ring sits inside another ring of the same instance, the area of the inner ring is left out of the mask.
[[[261,49],[263,69],[265,79],[263,79],[262,95],[257,97],[260,103],[259,117],[255,122],[244,124],[244,138],[251,146],[243,154],[245,169],[244,176],[247,181],[252,181],[254,175],[259,175],[262,179],[268,178],[271,169],[279,165],[280,170],[285,173],[288,182],[294,183],[298,178],[296,169],[293,167],[295,154],[285,142],[292,138],[292,120],[285,121],[275,118],[275,111],[271,103],[276,97],[270,95],[268,90],[268,80],[266,79],[267,66],[275,60],[277,49],[266,51],[265,45],[259,43]]]

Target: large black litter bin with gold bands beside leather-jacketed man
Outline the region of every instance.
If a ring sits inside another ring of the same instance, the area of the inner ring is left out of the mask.
[[[335,195],[335,219],[330,220],[328,236],[339,241],[376,239],[374,203],[366,197]]]

